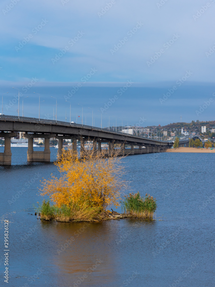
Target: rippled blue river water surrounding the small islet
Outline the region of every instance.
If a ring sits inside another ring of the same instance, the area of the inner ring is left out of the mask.
[[[86,224],[37,219],[40,180],[58,171],[53,162],[27,164],[27,148],[11,150],[12,166],[0,166],[0,286],[215,286],[214,154],[124,158],[132,191],[156,197],[156,220]],[[56,152],[51,148],[52,161]],[[9,284],[3,278],[5,219]]]

